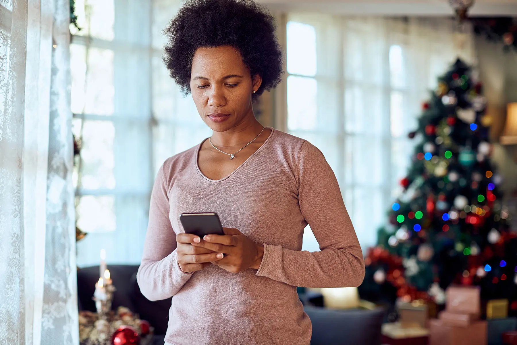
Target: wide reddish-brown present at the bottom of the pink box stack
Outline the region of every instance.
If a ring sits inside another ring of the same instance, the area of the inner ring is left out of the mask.
[[[468,327],[455,327],[439,319],[431,319],[430,345],[487,345],[486,321],[474,321]]]

